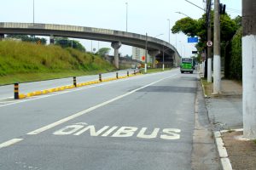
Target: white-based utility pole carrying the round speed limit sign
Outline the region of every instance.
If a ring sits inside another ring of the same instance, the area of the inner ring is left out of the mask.
[[[211,28],[212,0],[207,0],[207,41],[212,41]],[[212,47],[207,47],[207,82],[212,82]]]

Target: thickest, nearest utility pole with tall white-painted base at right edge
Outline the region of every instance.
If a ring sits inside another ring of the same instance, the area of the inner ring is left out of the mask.
[[[242,0],[242,114],[243,135],[256,139],[256,3]]]

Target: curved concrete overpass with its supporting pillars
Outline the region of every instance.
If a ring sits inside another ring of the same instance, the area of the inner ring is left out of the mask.
[[[114,31],[84,26],[0,22],[0,39],[1,37],[4,37],[4,34],[49,36],[50,43],[54,43],[54,37],[74,37],[103,42],[112,42],[111,46],[114,48],[114,61],[117,68],[119,68],[119,48],[121,44],[138,48],[145,48],[147,39],[148,54],[153,56],[153,61],[155,60],[155,56],[162,54],[163,51],[165,52],[165,56],[167,55],[172,57],[173,65],[178,65],[180,61],[180,55],[178,54],[177,49],[172,46],[172,44],[162,41],[158,38],[146,38],[145,35],[125,31]]]

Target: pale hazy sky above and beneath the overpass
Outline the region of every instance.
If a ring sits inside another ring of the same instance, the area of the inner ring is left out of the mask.
[[[2,0],[0,22],[33,22],[33,0]],[[204,8],[204,0],[189,0]],[[204,11],[186,0],[34,0],[35,23],[89,26],[157,37],[169,42],[169,26],[186,14],[193,19],[201,18]],[[126,4],[127,3],[127,4]],[[226,4],[231,18],[241,15],[241,0],[220,0]],[[126,10],[127,7],[127,10]],[[177,12],[183,13],[178,14]],[[169,25],[170,20],[170,25]],[[111,48],[109,42],[78,39],[86,48]],[[182,56],[191,56],[195,43],[188,43],[183,33],[172,34],[170,42]],[[119,53],[131,55],[131,46],[122,45]],[[113,54],[111,50],[110,54]]]

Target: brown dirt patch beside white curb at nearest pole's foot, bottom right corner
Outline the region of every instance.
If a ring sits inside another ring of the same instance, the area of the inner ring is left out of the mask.
[[[224,146],[228,151],[230,162],[234,170],[256,169],[256,143],[255,141],[241,141],[235,139],[242,132],[222,133]]]

